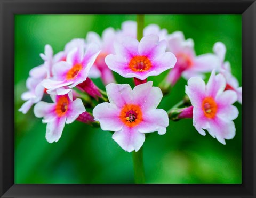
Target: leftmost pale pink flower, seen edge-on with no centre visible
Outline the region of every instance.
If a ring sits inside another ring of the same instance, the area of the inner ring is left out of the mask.
[[[40,54],[44,60],[44,64],[39,65],[29,71],[29,76],[26,81],[27,92],[21,95],[21,99],[26,101],[21,108],[20,112],[26,114],[31,106],[42,100],[45,88],[42,86],[42,81],[49,78],[52,69],[53,51],[50,45],[45,45],[44,54]]]

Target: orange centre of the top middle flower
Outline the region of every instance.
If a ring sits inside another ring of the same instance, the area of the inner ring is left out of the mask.
[[[151,67],[152,63],[146,56],[134,56],[129,63],[132,71],[147,71]]]

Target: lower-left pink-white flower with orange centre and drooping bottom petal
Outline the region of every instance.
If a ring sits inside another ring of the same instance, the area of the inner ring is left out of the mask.
[[[73,101],[71,92],[66,95],[52,96],[54,103],[38,102],[34,107],[37,118],[44,118],[46,139],[49,143],[57,142],[62,134],[65,123],[74,122],[80,114],[85,112],[81,99]]]

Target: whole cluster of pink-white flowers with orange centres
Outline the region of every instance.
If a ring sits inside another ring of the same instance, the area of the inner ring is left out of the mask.
[[[107,28],[102,36],[88,32],[85,39],[73,39],[56,54],[46,45],[40,54],[44,63],[29,72],[28,91],[21,95],[26,102],[19,111],[27,113],[35,104],[35,116],[47,123],[49,143],[59,141],[65,123],[77,120],[114,131],[112,138],[122,149],[138,151],[145,133],[163,135],[169,120],[193,118],[200,134],[207,130],[225,144],[225,139],[235,136],[233,120],[238,110],[232,104],[242,103],[242,88],[225,54],[225,45],[218,42],[213,53],[196,55],[192,39],[185,39],[180,31],[169,34],[156,24],[145,27],[138,40],[137,23],[125,21],[121,29]],[[148,77],[167,70],[160,88],[147,82]],[[133,88],[116,84],[114,72],[133,78]],[[203,78],[210,72],[206,85]],[[191,106],[157,109],[163,94],[169,94],[180,77],[188,80],[187,104]],[[94,78],[102,80],[106,92],[93,83]],[[52,103],[43,101],[44,95]]]

